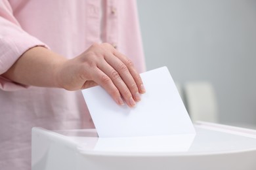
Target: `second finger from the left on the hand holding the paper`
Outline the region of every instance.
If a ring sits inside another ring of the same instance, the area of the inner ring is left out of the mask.
[[[121,78],[119,73],[116,71],[116,69],[114,69],[106,61],[102,61],[101,63],[98,63],[98,68],[112,80],[112,82],[114,83],[116,88],[119,90],[119,93],[121,93],[121,96],[123,97],[127,105],[129,107],[135,107],[136,103],[135,103],[135,100],[133,99],[133,95],[130,92],[129,88],[127,87],[127,84],[123,82],[123,79]]]

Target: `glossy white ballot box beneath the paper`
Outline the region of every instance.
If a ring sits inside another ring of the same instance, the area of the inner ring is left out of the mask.
[[[196,134],[98,137],[95,129],[32,129],[32,170],[256,169],[256,131],[198,122]]]

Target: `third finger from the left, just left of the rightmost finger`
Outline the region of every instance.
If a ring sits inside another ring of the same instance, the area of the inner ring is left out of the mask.
[[[133,99],[135,101],[140,101],[139,88],[125,63],[123,63],[120,59],[116,58],[116,56],[112,54],[105,56],[105,59],[110,65],[112,65],[119,78],[121,78],[121,80],[123,80],[123,82],[126,84],[127,88],[129,88],[129,91],[133,95]]]

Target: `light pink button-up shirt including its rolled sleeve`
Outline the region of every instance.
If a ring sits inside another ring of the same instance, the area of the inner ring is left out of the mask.
[[[0,0],[0,75],[26,50],[74,58],[109,42],[145,70],[136,1]],[[31,129],[94,127],[80,91],[26,87],[0,76],[0,169],[30,169]]]

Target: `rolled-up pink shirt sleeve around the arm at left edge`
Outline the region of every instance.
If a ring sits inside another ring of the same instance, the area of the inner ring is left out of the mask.
[[[8,1],[0,0],[0,89],[14,91],[28,88],[1,76],[30,48],[47,45],[26,33],[12,14]]]

